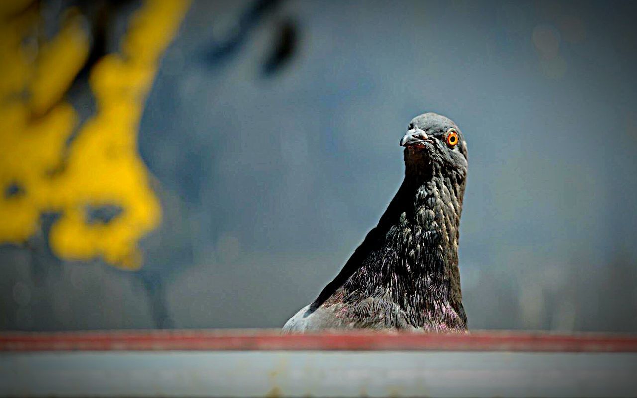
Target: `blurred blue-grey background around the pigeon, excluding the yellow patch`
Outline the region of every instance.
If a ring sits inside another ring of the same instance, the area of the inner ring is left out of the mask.
[[[619,1],[194,1],[141,123],[163,217],[143,268],[57,259],[45,222],[0,248],[0,328],[280,327],[375,226],[400,137],[434,111],[469,145],[469,327],[637,332],[636,17]]]

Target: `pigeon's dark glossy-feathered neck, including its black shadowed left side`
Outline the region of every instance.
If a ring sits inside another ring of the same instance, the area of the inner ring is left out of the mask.
[[[360,303],[376,297],[387,303],[387,319],[400,308],[407,324],[395,327],[466,330],[457,251],[464,175],[454,173],[406,172],[378,225],[307,313],[330,298]]]

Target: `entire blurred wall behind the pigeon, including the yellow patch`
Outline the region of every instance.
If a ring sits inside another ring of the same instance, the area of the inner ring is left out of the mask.
[[[24,3],[2,329],[281,326],[435,111],[469,144],[469,326],[637,331],[636,4]]]

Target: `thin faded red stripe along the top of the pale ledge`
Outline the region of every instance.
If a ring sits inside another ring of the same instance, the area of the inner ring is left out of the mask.
[[[637,336],[473,332],[317,333],[271,330],[0,333],[0,351],[400,350],[637,352]]]

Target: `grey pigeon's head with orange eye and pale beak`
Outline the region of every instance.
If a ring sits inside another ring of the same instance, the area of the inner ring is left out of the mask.
[[[423,174],[433,168],[466,175],[467,143],[454,121],[437,113],[423,113],[409,123],[400,141],[406,172]]]

